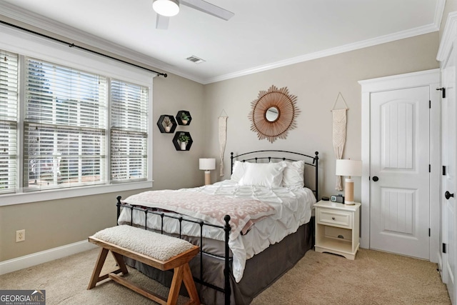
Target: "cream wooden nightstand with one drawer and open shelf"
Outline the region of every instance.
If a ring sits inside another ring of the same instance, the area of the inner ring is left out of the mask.
[[[355,259],[359,241],[360,205],[318,201],[316,208],[316,252],[329,252]]]

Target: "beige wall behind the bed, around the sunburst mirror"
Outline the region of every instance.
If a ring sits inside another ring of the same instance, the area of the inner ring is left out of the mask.
[[[205,116],[209,119],[208,149],[218,156],[217,117],[224,109],[229,116],[226,146],[226,175],[229,178],[230,151],[243,153],[257,149],[286,149],[313,154],[319,151],[320,196],[338,194],[335,190],[335,157],[332,143],[331,109],[338,92],[346,100],[347,138],[343,158],[361,159],[361,86],[359,80],[438,68],[438,32],[393,41],[366,49],[349,51],[280,69],[238,77],[205,86]],[[273,144],[258,140],[250,130],[248,113],[258,91],[271,85],[286,86],[298,96],[298,128],[287,139]],[[343,108],[338,101],[336,108]],[[213,172],[213,179],[216,179]],[[356,179],[355,199],[360,200],[360,178]]]

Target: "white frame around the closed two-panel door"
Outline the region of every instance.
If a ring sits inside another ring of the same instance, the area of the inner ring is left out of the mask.
[[[370,249],[370,96],[375,92],[428,86],[430,109],[430,261],[438,262],[440,254],[440,185],[441,185],[441,100],[440,69],[386,76],[358,81],[361,84],[361,248]]]

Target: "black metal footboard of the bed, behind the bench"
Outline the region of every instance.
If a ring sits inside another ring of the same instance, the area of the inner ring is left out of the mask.
[[[225,304],[230,304],[230,298],[231,298],[231,296],[230,296],[230,294],[231,294],[230,276],[231,276],[231,260],[232,259],[230,257],[230,248],[229,248],[229,234],[231,231],[231,226],[229,224],[229,221],[230,221],[229,215],[224,216],[224,221],[225,221],[224,226],[218,226],[218,225],[214,225],[214,224],[205,223],[204,221],[195,221],[192,219],[185,219],[182,216],[168,215],[162,211],[155,211],[154,209],[148,209],[148,208],[144,208],[141,206],[134,206],[131,204],[124,204],[121,202],[121,196],[117,196],[116,199],[117,199],[117,202],[116,202],[117,219],[119,219],[119,216],[121,215],[121,209],[130,209],[131,210],[131,221],[130,221],[131,226],[134,226],[134,221],[133,221],[134,210],[144,212],[144,216],[145,216],[144,229],[146,229],[146,230],[148,229],[147,228],[148,215],[154,214],[154,215],[160,216],[161,228],[159,231],[161,234],[164,234],[164,219],[176,219],[177,221],[179,221],[179,238],[180,239],[183,238],[183,234],[182,234],[182,223],[183,222],[187,221],[187,222],[191,222],[194,224],[199,224],[199,227],[200,227],[199,242],[200,242],[200,251],[201,251],[201,253],[199,253],[199,270],[200,270],[200,272],[199,272],[199,276],[194,275],[194,281],[196,281],[196,283],[199,283],[201,285],[207,286],[211,289],[215,289],[216,291],[221,291],[222,293],[224,293]],[[220,256],[219,254],[209,253],[209,252],[206,252],[203,250],[204,249],[203,231],[204,231],[205,226],[211,226],[213,228],[224,230],[224,256]],[[224,288],[211,284],[207,281],[204,281],[204,276],[203,276],[204,264],[203,264],[203,254],[202,253],[224,259]]]

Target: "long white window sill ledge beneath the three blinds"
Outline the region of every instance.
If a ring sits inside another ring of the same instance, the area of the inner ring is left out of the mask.
[[[83,186],[71,189],[59,189],[49,191],[32,191],[21,194],[0,195],[0,206],[12,204],[28,204],[37,201],[49,201],[55,199],[66,199],[79,196],[90,196],[97,194],[114,193],[119,191],[131,191],[135,189],[150,189],[153,181],[140,181],[125,184],[111,184],[101,186]]]

